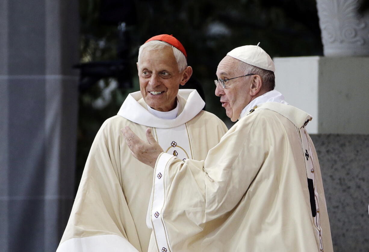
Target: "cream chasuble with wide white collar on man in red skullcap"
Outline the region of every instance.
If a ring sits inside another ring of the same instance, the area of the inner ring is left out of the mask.
[[[162,119],[149,113],[140,92],[131,93],[118,115],[104,122],[87,158],[58,252],[148,250],[152,229],[146,226],[146,214],[153,169],[131,155],[120,129],[128,125],[146,139],[145,131],[151,127],[163,150],[180,160],[204,159],[227,131],[219,118],[201,110],[204,101],[196,90],[179,90],[177,102],[177,117]]]

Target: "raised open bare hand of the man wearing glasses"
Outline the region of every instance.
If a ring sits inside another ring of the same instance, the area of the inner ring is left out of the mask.
[[[128,148],[131,150],[132,155],[142,163],[154,168],[156,159],[158,159],[160,153],[163,152],[163,149],[158,142],[155,141],[155,138],[151,133],[151,128],[146,130],[146,138],[148,143],[137,137],[137,135],[134,134],[134,132],[128,126],[122,128],[121,131]]]

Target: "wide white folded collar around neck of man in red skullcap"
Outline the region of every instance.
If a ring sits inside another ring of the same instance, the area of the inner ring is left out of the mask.
[[[199,114],[205,106],[205,102],[201,99],[196,90],[180,89],[177,94],[180,107],[179,114],[174,119],[162,119],[151,114],[146,106],[142,106],[138,102],[140,99],[142,99],[140,91],[128,94],[118,111],[118,115],[141,125],[167,129],[188,122]],[[183,110],[181,110],[181,108],[183,108]]]

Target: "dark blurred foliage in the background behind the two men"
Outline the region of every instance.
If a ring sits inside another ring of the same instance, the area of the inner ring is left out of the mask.
[[[117,59],[118,25],[100,22],[101,0],[80,0],[80,61]],[[315,0],[135,0],[137,24],[128,26],[130,90],[105,79],[79,96],[77,183],[96,132],[115,115],[127,93],[139,90],[139,45],[158,34],[173,34],[186,48],[193,77],[206,93],[206,110],[230,121],[214,96],[218,62],[231,49],[260,46],[273,57],[323,55]],[[104,95],[105,94],[105,95]],[[98,102],[99,101],[99,102]]]

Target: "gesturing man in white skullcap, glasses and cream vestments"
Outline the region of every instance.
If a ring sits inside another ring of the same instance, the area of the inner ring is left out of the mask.
[[[135,157],[154,168],[149,251],[333,251],[306,131],[311,116],[273,90],[274,71],[259,46],[222,59],[215,95],[238,122],[204,160],[181,160],[162,152],[150,132],[146,144],[122,129]]]

